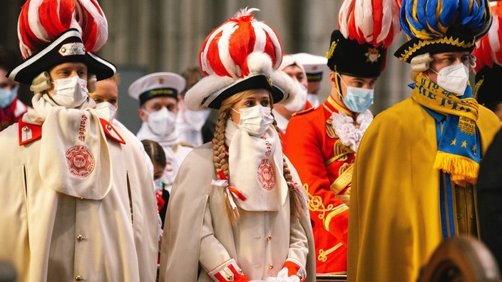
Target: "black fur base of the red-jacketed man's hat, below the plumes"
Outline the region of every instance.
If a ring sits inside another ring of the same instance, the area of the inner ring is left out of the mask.
[[[362,78],[376,78],[384,71],[386,48],[372,44],[359,44],[357,40],[345,38],[339,30],[331,34],[327,66],[332,71]]]

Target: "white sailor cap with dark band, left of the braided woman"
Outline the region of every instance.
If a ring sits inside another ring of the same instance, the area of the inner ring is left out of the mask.
[[[135,80],[128,89],[129,96],[140,101],[143,105],[146,101],[157,97],[173,97],[178,99],[178,93],[185,90],[186,80],[177,73],[150,73]]]

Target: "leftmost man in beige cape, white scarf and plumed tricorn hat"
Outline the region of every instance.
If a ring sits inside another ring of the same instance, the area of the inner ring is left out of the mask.
[[[19,281],[154,281],[158,216],[148,163],[134,135],[100,118],[88,95],[116,72],[93,54],[108,35],[103,11],[93,0],[43,1],[39,11],[40,2],[22,8],[24,62],[8,74],[34,97],[0,132],[8,160],[0,162],[0,258]]]

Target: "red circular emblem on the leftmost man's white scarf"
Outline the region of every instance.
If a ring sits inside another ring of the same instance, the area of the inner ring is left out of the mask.
[[[76,177],[86,177],[94,170],[96,160],[86,146],[75,145],[66,151],[68,170]]]

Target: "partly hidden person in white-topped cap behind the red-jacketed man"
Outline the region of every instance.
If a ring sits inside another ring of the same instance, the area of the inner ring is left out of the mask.
[[[321,89],[322,72],[327,66],[328,59],[323,56],[309,53],[296,53],[292,55],[294,59],[303,66],[307,74],[307,100],[312,107],[319,105],[319,90]]]

